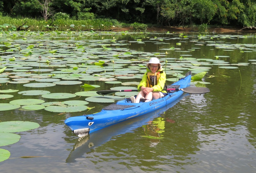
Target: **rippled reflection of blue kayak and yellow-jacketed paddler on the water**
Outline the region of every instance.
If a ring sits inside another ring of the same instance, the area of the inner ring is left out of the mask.
[[[182,96],[179,97],[176,101],[158,110],[118,123],[115,126],[109,126],[107,128],[98,130],[96,132],[89,134],[88,136],[80,137],[74,144],[74,147],[70,152],[68,158],[66,159],[66,162],[77,162],[76,159],[83,158],[85,154],[93,152],[95,147],[101,146],[108,141],[114,140],[114,138],[117,137],[118,135],[134,132],[136,128],[145,129],[146,125],[148,126],[147,129],[150,130],[150,126],[153,124],[153,122],[155,126],[158,126],[157,128],[155,128],[155,135],[160,134],[160,136],[162,136],[164,132],[165,119],[162,118],[161,115],[166,110],[174,106],[177,102],[179,102],[184,97],[189,95],[190,94],[183,93]],[[147,135],[153,136],[153,134],[148,132]],[[159,139],[154,139],[154,142],[155,140]]]

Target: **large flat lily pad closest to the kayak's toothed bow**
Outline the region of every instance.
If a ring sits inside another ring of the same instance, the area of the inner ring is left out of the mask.
[[[79,106],[68,106],[68,107],[63,107],[63,106],[47,106],[44,108],[47,111],[50,112],[81,112],[84,111],[88,108],[88,106],[85,105],[79,105]]]

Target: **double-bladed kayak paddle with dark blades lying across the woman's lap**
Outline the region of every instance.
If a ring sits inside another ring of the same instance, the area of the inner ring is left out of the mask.
[[[137,89],[102,90],[102,91],[97,91],[96,93],[100,95],[107,95],[107,94],[112,94],[116,92],[132,92],[132,91],[138,91],[138,90]],[[189,94],[204,94],[204,93],[210,92],[208,88],[204,88],[204,87],[168,88],[168,89],[163,89],[163,91],[183,91]]]

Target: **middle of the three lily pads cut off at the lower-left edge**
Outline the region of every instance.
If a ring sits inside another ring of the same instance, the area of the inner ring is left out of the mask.
[[[20,137],[21,136],[16,133],[0,133],[0,146],[15,144],[16,142],[20,141]]]

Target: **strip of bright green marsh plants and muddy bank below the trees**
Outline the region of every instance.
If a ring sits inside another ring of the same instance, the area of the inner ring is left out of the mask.
[[[178,27],[161,27],[141,23],[124,24],[115,19],[88,20],[37,20],[32,18],[0,18],[0,32],[6,31],[102,31],[102,32],[199,32],[199,33],[254,33],[255,28],[220,27],[207,24]]]

